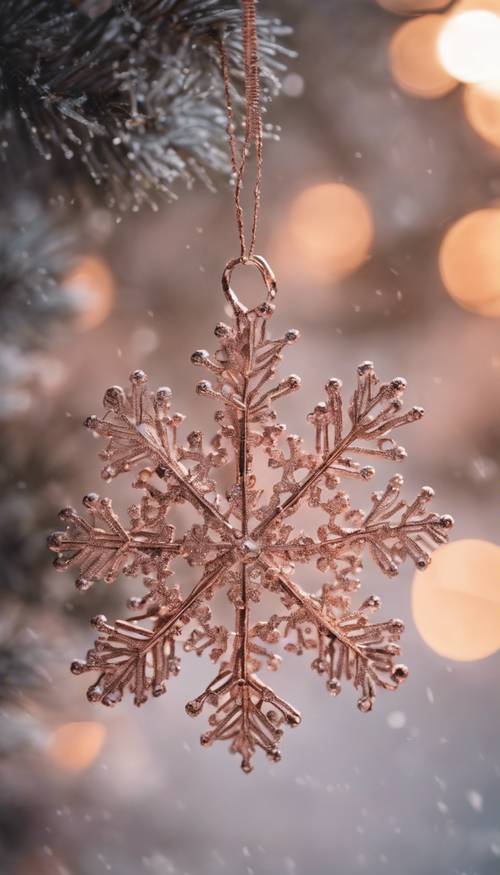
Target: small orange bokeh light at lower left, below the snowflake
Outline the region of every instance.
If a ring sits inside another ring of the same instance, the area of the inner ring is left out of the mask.
[[[80,772],[99,756],[106,729],[102,723],[64,723],[53,733],[48,755],[65,772]]]

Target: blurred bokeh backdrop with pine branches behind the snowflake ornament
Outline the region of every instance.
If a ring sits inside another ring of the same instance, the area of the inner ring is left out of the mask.
[[[258,758],[250,777],[223,745],[203,751],[202,719],[185,716],[205,661],[186,657],[140,710],[87,702],[69,663],[93,640],[89,617],[120,615],[123,590],[76,592],[45,547],[61,507],[133,495],[104,487],[81,427],[108,385],[144,368],[190,428],[210,427],[189,356],[214,348],[237,251],[210,30],[225,16],[237,66],[237,4],[139,3],[163,25],[129,10],[114,31],[109,2],[2,5],[1,872],[496,875],[500,0],[260,4],[268,90],[279,80],[281,93],[267,105],[258,250],[279,280],[275,335],[302,332],[285,371],[303,388],[281,415],[308,435],[326,378],[348,391],[365,359],[405,376],[426,410],[401,437],[407,495],[432,484],[456,526],[415,580],[409,565],[395,581],[365,570],[364,592],[407,626],[397,696],[362,715],[288,656],[279,692],[303,723],[283,761]],[[162,26],[172,64],[148,79]],[[140,94],[118,118],[117,70]]]

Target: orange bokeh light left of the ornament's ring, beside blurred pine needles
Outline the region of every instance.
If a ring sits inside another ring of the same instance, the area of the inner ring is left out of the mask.
[[[82,331],[96,328],[109,316],[115,296],[113,274],[96,256],[85,256],[64,279],[67,294],[75,301],[77,327]]]

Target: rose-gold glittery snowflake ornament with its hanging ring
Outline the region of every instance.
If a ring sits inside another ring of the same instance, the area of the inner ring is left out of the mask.
[[[403,412],[404,380],[380,383],[370,363],[361,365],[346,414],[341,383],[331,379],[326,402],[308,416],[314,449],[306,451],[295,435],[286,437],[274,403],[296,391],[300,380],[295,375],[278,380],[276,371],[285,347],[299,335],[269,336],[274,275],[259,256],[245,260],[258,269],[267,290],[262,304],[247,309],[230,286],[237,263],[230,262],[223,275],[232,323],[216,326],[219,348],[213,357],[206,350],[192,355],[193,364],[211,373],[211,381],[198,383],[198,394],[218,403],[218,431],[210,447],[197,431],[180,443],[184,417],[171,411],[170,390],[153,393],[144,373],[134,372],[130,391],[109,389],[105,416],[86,423],[108,440],[102,454],[105,480],[139,467],[134,486],[142,498],[129,509],[130,524],[122,526],[110,502],[92,494],[84,499],[89,517],[63,511],[67,527],[51,536],[49,546],[58,554],[57,568],[80,567],[80,589],[99,578],[112,582],[121,572],[144,577],[147,593],[129,601],[131,616],[114,624],[95,618],[99,636],[94,647],[72,665],[75,674],[98,672],[88,691],[90,701],[113,705],[129,690],[141,705],[150,693],[165,692],[169,678],[178,674],[179,644],[198,655],[208,651],[218,672],[186,710],[195,716],[211,708],[202,743],[228,741],[248,772],[257,748],[278,760],[284,726],[300,722],[299,713],[257,675],[263,665],[271,670],[279,666],[273,648],[281,641],[288,652],[314,651],[312,668],[325,677],[332,695],[340,692],[342,681],[351,681],[362,711],[372,708],[377,687],[394,690],[406,678],[406,667],[396,662],[403,623],[371,622],[380,606],[376,596],[357,608],[352,605],[363,553],[368,551],[390,576],[406,558],[424,568],[433,547],[446,541],[452,520],[428,511],[433,494],[428,487],[407,504],[400,496],[399,475],[372,496],[366,513],[352,509],[347,493],[339,489],[345,478],[368,480],[375,473],[360,466],[359,455],[404,458],[390,435],[422,416],[417,407]],[[254,473],[258,453],[280,472],[267,495]],[[228,464],[234,466],[234,477],[222,496],[216,472]],[[168,513],[183,503],[197,512],[199,522],[176,538]],[[304,506],[325,516],[314,537],[293,526],[294,514]],[[202,568],[187,594],[170,580],[176,557]],[[314,595],[294,577],[295,563],[311,560],[328,575]],[[234,607],[232,632],[212,621],[209,605],[221,589]],[[282,612],[252,625],[252,603],[266,590]]]

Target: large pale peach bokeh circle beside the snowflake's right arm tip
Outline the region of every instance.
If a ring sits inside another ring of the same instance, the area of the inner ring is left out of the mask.
[[[415,625],[448,659],[484,659],[500,648],[500,547],[454,541],[441,547],[412,591]]]

